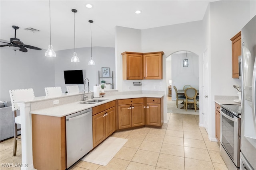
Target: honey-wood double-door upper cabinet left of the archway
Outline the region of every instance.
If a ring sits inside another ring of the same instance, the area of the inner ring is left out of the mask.
[[[164,52],[124,52],[123,80],[162,79]]]

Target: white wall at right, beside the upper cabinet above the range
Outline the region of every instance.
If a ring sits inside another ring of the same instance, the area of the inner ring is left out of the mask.
[[[233,84],[241,80],[232,78],[232,45],[230,39],[250,20],[249,1],[216,1],[210,3],[204,17],[204,45],[209,45],[209,136],[215,138],[214,96],[236,96]],[[210,26],[209,26],[210,25]],[[208,33],[210,35],[208,35]]]

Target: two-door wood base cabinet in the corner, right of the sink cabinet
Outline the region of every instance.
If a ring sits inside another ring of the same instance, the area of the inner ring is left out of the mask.
[[[118,100],[118,129],[145,125],[144,98]]]

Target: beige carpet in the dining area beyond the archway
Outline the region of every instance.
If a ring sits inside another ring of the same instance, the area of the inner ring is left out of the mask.
[[[166,105],[167,105],[167,113],[182,113],[182,114],[191,114],[191,115],[199,115],[199,110],[189,110],[187,109],[187,111],[185,109],[180,109],[181,107],[183,107],[183,104],[181,104],[182,101],[178,102],[178,108],[176,106],[176,100],[172,101],[171,97],[167,97],[166,100]],[[197,104],[197,107],[199,108],[199,102]]]

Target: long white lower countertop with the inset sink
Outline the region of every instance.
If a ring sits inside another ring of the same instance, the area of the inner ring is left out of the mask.
[[[48,116],[55,116],[55,117],[63,117],[66,115],[70,115],[72,113],[76,113],[78,111],[82,111],[85,109],[89,109],[101,104],[105,104],[108,102],[111,102],[113,100],[118,100],[118,99],[129,99],[129,98],[161,98],[164,96],[164,94],[128,94],[128,95],[115,95],[115,96],[108,96],[104,98],[94,98],[90,100],[105,100],[103,102],[99,102],[96,104],[80,104],[81,102],[84,101],[79,101],[79,102],[73,102],[69,104],[63,104],[63,105],[58,105],[54,107],[48,107],[45,109],[39,109],[39,110],[34,110],[30,111],[32,114],[37,114],[37,115],[48,115]],[[38,100],[43,100],[42,98]],[[90,101],[86,100],[86,102]],[[34,102],[34,101],[33,101]]]

